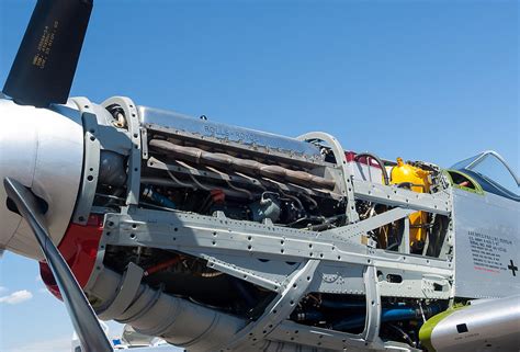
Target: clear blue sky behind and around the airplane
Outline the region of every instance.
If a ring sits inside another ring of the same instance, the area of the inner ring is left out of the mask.
[[[34,3],[0,0],[1,84]],[[517,1],[95,0],[71,94],[445,167],[496,149],[518,170],[518,50]],[[36,263],[0,273],[0,350],[68,351]]]

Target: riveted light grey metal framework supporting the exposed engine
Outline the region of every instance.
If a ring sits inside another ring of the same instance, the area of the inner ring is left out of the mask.
[[[83,109],[87,109],[84,105],[88,103],[82,103]],[[264,314],[237,331],[229,342],[219,348],[221,351],[265,350],[267,340],[286,345],[294,343],[306,345],[313,351],[350,349],[414,351],[409,345],[405,348],[404,344],[383,342],[380,339],[382,297],[448,300],[453,296],[454,268],[449,251],[444,251],[438,258],[410,254],[407,222],[408,216],[417,211],[451,218],[450,188],[433,194],[420,194],[357,180],[352,177],[344,151],[337,139],[324,133],[309,133],[298,139],[307,141],[319,139],[327,143],[338,160],[338,163],[332,166],[332,175],[340,190],[338,198],[344,197],[348,204],[346,215],[349,224],[346,226],[318,232],[275,226],[269,219],[263,223],[235,220],[222,212],[206,216],[140,208],[137,203],[142,182],[142,160],[146,160],[148,168],[158,170],[174,170],[186,174],[197,171],[183,168],[182,164],[167,164],[150,157],[147,149],[147,128],[139,128],[135,104],[121,98],[110,99],[103,103],[104,106],[113,104],[120,105],[125,115],[129,116],[127,135],[133,147],[128,150],[131,171],[128,193],[126,207],[121,213],[105,214],[97,264],[84,287],[87,292],[93,289],[104,271],[103,258],[106,247],[123,246],[158,248],[191,254],[205,260],[211,269],[275,293],[275,298]],[[83,123],[89,132],[87,139],[92,141],[87,145],[86,168],[91,170],[92,177],[95,178],[97,169],[92,160],[99,157],[101,147],[95,143],[95,138],[90,138],[91,135],[95,137],[95,121],[91,121],[92,115],[89,111],[86,111],[83,116]],[[162,130],[150,124],[148,127]],[[174,133],[188,134],[182,130]],[[84,177],[88,178],[90,174]],[[211,172],[204,175],[223,178],[222,174]],[[245,178],[239,182],[258,181]],[[84,184],[87,186],[80,193],[76,222],[81,220],[80,216],[86,216],[91,205],[92,190],[88,189],[88,182]],[[353,206],[358,200],[387,205],[388,211],[360,220]],[[399,219],[405,219],[402,245],[394,251],[376,249],[366,234]],[[445,247],[451,246],[451,232],[452,227],[445,236]],[[385,279],[387,275],[398,275],[402,281],[399,283],[387,281]],[[128,283],[125,285],[137,287],[140,277],[142,272],[139,275],[138,271],[133,270],[128,272],[125,279]],[[104,308],[102,316],[110,318],[117,307],[127,305],[135,289],[129,295],[117,296],[112,306]],[[363,331],[359,334],[346,333],[287,320],[295,305],[309,293],[364,296],[366,317]]]

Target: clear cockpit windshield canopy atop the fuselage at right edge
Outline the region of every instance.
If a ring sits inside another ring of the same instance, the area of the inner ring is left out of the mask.
[[[451,169],[472,177],[486,192],[520,202],[520,179],[496,151],[483,151],[455,163]]]

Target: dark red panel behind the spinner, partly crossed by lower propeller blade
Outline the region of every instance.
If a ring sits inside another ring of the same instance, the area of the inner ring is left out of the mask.
[[[81,287],[84,287],[94,269],[102,232],[103,217],[91,215],[84,226],[70,224],[58,246],[58,250],[64,256]],[[47,289],[58,299],[61,299],[61,293],[53,272],[45,261],[39,262],[39,274]]]

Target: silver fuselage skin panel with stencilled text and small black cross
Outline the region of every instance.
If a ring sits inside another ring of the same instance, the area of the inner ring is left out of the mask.
[[[505,297],[520,289],[520,203],[453,190],[455,296]]]

